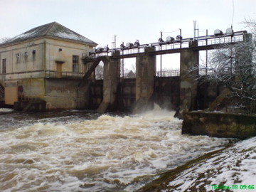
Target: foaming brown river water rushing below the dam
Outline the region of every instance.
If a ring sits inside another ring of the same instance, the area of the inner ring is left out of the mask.
[[[174,112],[0,115],[0,191],[134,191],[228,139],[181,135]]]

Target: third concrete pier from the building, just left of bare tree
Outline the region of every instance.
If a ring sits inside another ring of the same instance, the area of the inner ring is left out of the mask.
[[[198,41],[189,42],[189,48],[198,46]],[[181,50],[181,90],[180,90],[180,109],[179,113],[188,112],[196,109],[196,95],[198,87],[198,65],[199,51],[193,49]],[[188,75],[188,72],[191,73]]]

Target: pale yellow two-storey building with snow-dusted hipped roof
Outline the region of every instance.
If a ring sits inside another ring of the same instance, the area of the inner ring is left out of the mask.
[[[0,84],[5,103],[46,101],[46,108],[80,106],[76,89],[87,70],[82,58],[97,43],[53,22],[0,44]]]

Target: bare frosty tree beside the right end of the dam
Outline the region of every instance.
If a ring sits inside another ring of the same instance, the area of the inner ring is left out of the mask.
[[[244,23],[250,33],[245,33],[239,43],[226,44],[213,51],[206,80],[225,85],[230,90],[233,105],[251,113],[256,107],[256,21],[245,20]]]

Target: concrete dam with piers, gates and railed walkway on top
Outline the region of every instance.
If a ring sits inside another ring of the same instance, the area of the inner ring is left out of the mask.
[[[80,90],[87,90],[85,108],[100,113],[115,110],[143,112],[154,103],[180,114],[206,109],[222,92],[223,86],[210,85],[196,78],[199,76],[199,51],[243,41],[248,34],[239,31],[198,38],[159,39],[158,43],[144,45],[127,43],[127,46],[115,49],[98,48],[92,57],[84,59],[89,70],[78,85],[78,94]],[[179,73],[169,77],[156,76],[156,55],[171,53],[180,53]],[[136,58],[136,78],[120,78],[120,60],[123,58]],[[104,63],[103,80],[93,80],[92,73],[100,61]],[[188,75],[191,71],[192,75]]]

